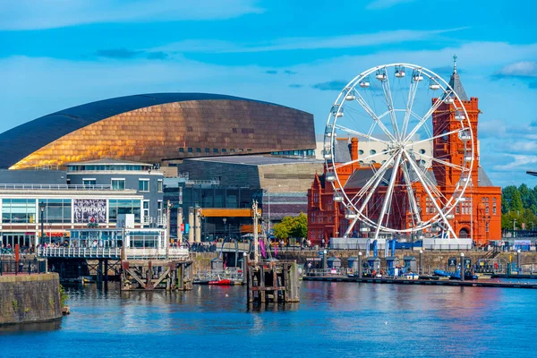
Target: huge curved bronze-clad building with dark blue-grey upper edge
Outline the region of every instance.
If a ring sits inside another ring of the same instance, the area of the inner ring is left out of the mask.
[[[63,168],[102,158],[164,166],[314,149],[313,115],[298,109],[216,94],[151,93],[67,108],[0,133],[0,168]]]

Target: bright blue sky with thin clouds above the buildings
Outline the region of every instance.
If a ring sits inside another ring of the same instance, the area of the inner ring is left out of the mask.
[[[341,83],[452,59],[480,98],[481,162],[499,185],[537,169],[533,1],[18,0],[0,2],[0,132],[137,93],[224,93],[296,107],[322,132]]]

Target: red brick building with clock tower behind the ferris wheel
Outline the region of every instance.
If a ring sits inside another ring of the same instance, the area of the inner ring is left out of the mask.
[[[478,98],[468,98],[456,70],[454,70],[449,84],[463,101],[472,125],[473,135],[478,139],[478,117],[481,113],[478,107]],[[452,106],[453,104],[443,103],[433,113],[433,132],[442,133],[458,128],[457,125],[460,124],[458,124],[456,111],[452,109]],[[429,151],[429,156],[442,158],[447,163],[462,163],[465,152],[458,149],[456,141],[452,137],[449,137],[451,138],[449,140],[445,137],[438,137],[430,148],[422,148],[424,150],[422,154]],[[382,148],[372,150],[382,150]],[[381,164],[360,163],[361,156],[367,157],[369,153],[364,152],[363,148],[361,149],[357,138],[339,138],[333,149],[333,155],[336,163],[351,162],[349,165],[338,166],[336,169],[337,177],[345,188],[345,193],[351,196],[360,192],[364,183],[371,178],[371,167],[378,169]],[[476,141],[476,150],[473,155],[473,170],[469,174],[471,184],[466,189],[464,200],[459,201],[449,220],[458,237],[472,238],[478,245],[484,245],[490,240],[501,238],[501,188],[490,182],[488,175],[480,166],[478,141]],[[424,166],[430,183],[437,186],[439,192],[446,195],[454,192],[460,173],[456,173],[452,167],[447,165],[435,163],[434,166],[431,166],[426,161],[419,164]],[[308,191],[308,237],[312,243],[321,243],[323,239],[328,243],[330,238],[342,236],[349,224],[349,219],[345,218],[344,206],[334,201],[332,185],[325,181],[326,174],[325,168],[322,175],[316,175]],[[439,183],[443,184],[439,185]],[[404,185],[397,185],[397,188],[403,187]],[[422,218],[428,220],[434,217],[437,213],[436,209],[423,190],[421,183],[414,183],[413,189]],[[386,187],[379,186],[379,195],[382,196],[385,192]],[[406,201],[405,191],[396,189],[392,200],[394,214],[388,218],[390,227],[406,229],[412,225],[412,215],[405,209],[408,208]],[[379,207],[370,209],[369,217],[375,217],[375,215],[379,215]],[[434,229],[435,227],[426,229],[418,235],[432,237],[438,234]],[[368,226],[358,223],[354,226],[350,236],[368,237],[370,234],[372,233],[369,232]],[[418,237],[404,236],[401,239],[410,241]]]

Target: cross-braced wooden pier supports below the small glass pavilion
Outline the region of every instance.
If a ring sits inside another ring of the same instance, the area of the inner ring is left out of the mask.
[[[121,265],[122,291],[192,290],[190,260],[124,260]]]

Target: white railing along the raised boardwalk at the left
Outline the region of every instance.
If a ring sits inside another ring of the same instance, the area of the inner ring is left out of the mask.
[[[122,248],[102,248],[102,247],[40,247],[39,257],[46,258],[81,258],[81,259],[113,259],[121,260]],[[170,248],[126,248],[124,249],[124,259],[158,260],[174,259],[188,260],[188,249],[183,247]]]

